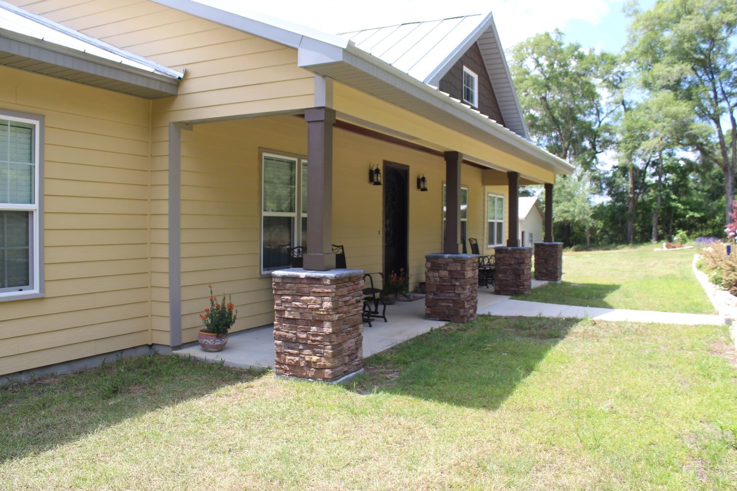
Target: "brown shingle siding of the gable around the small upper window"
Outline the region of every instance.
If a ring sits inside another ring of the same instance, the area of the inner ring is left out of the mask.
[[[486,65],[483,63],[481,51],[478,49],[476,43],[473,43],[468,51],[461,56],[461,59],[455,62],[453,68],[450,68],[447,74],[440,79],[439,89],[443,92],[450,93],[455,99],[463,99],[464,66],[467,66],[469,70],[478,74],[478,107],[476,109],[489,116],[489,118],[494,119],[497,123],[504,124],[502,112],[499,109],[494,88],[492,88],[492,82],[489,80],[489,74],[486,73]]]

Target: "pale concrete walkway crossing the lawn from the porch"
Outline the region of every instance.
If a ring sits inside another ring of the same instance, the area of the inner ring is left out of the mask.
[[[481,297],[483,293],[479,294]],[[496,297],[491,305],[479,308],[479,314],[521,317],[588,317],[596,320],[657,322],[660,324],[685,325],[724,325],[724,317],[709,314],[681,314],[680,312],[635,311],[624,308],[579,307],[576,305],[558,305],[556,303],[528,302],[526,300],[510,300],[503,295]]]

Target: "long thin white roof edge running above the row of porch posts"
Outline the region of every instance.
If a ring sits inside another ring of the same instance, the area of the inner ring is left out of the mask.
[[[405,72],[399,70],[399,68],[391,66],[389,63],[386,63],[385,61],[380,60],[379,58],[374,57],[371,54],[364,52],[362,49],[356,48],[355,46],[349,46],[348,48],[345,49],[345,51],[349,52],[350,54],[353,54],[354,56],[360,57],[362,60],[365,60],[368,63],[371,63],[371,65],[375,66],[376,68],[379,68],[380,70],[387,72],[391,76],[399,77],[404,82],[408,82],[411,85],[413,85],[415,88],[419,88],[423,93],[428,94],[432,96],[434,99],[436,99],[437,101],[442,102],[444,105],[447,105],[449,107],[448,109],[449,112],[453,110],[462,111],[462,114],[464,114],[465,116],[470,116],[472,118],[472,121],[474,121],[474,124],[476,124],[476,126],[483,128],[489,133],[494,133],[498,138],[502,138],[503,140],[506,140],[509,144],[517,146],[517,148],[519,149],[523,149],[528,152],[531,152],[534,155],[537,155],[538,158],[545,160],[547,163],[553,166],[556,170],[560,171],[561,174],[572,174],[573,173],[573,170],[574,170],[573,166],[571,166],[570,163],[567,163],[565,160],[562,160],[562,158],[559,158],[558,156],[551,154],[551,152],[548,152],[547,150],[540,148],[536,144],[529,141],[527,138],[524,138],[521,135],[517,135],[517,133],[514,133],[514,131],[509,130],[509,128],[503,127],[502,125],[489,120],[488,118],[481,115],[481,113],[475,113],[473,110],[471,110],[470,107],[466,107],[464,105],[453,102],[453,100],[450,99],[450,97],[445,96],[440,91],[436,91],[435,89],[430,87],[430,85],[427,85],[424,82],[417,80],[411,75],[405,74]],[[346,60],[334,60],[334,61],[346,61]]]

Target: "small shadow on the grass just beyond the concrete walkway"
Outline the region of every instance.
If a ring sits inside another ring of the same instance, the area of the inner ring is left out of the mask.
[[[556,303],[560,305],[579,305],[581,307],[615,308],[607,303],[607,297],[621,288],[621,285],[603,283],[550,283],[539,286],[526,295],[514,295],[513,300]]]

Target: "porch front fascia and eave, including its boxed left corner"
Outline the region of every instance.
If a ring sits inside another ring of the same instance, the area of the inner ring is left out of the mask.
[[[315,46],[311,46],[314,48]],[[298,66],[306,68],[310,71],[320,74],[321,66],[332,65],[333,63],[346,63],[349,66],[363,71],[364,73],[375,77],[383,82],[392,85],[399,91],[414,96],[422,102],[433,105],[441,110],[450,113],[455,118],[466,124],[472,124],[474,127],[483,130],[485,133],[492,135],[500,141],[514,147],[521,153],[537,158],[550,166],[551,172],[556,174],[572,174],[573,166],[570,166],[565,160],[547,152],[539,146],[531,143],[517,133],[502,127],[493,121],[489,121],[480,113],[476,113],[469,107],[453,102],[450,97],[436,91],[430,85],[427,85],[394,66],[385,63],[377,57],[371,56],[361,49],[350,44],[346,49],[334,50],[315,54],[310,52],[309,55],[298,57],[301,63]]]

